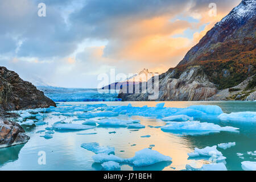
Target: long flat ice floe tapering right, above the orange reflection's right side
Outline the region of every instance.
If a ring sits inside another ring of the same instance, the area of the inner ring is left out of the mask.
[[[214,123],[199,122],[199,121],[184,121],[184,122],[170,122],[166,126],[162,126],[163,131],[236,131],[238,128],[225,126],[221,127]],[[210,133],[210,132],[209,132]]]

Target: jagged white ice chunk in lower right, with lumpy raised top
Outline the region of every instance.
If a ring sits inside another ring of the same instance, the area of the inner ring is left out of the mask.
[[[217,161],[225,160],[226,158],[222,155],[220,151],[217,150],[217,146],[205,147],[205,148],[195,148],[194,152],[188,153],[189,157],[213,157]]]

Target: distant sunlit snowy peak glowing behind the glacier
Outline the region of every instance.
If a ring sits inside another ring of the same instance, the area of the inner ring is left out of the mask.
[[[158,73],[149,72],[148,69],[143,69],[141,72],[131,76],[130,78],[127,78],[126,80],[120,81],[120,82],[114,82],[112,84],[104,86],[102,89],[122,89],[123,85],[133,84],[137,85],[141,82],[146,82],[150,80],[155,75],[159,75]]]

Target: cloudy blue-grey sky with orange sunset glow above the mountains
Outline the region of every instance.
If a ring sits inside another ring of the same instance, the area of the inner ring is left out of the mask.
[[[67,88],[97,88],[113,69],[163,73],[240,2],[1,0],[0,65],[35,85]]]

